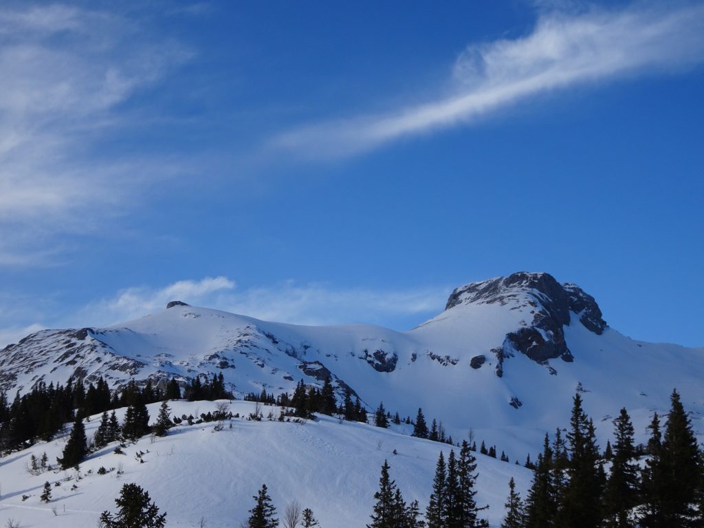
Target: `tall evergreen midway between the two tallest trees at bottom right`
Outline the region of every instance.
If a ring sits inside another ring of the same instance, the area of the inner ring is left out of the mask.
[[[612,447],[611,473],[606,484],[605,526],[608,528],[632,528],[629,510],[638,503],[638,465],[634,446],[634,429],[625,408],[613,421],[614,445]]]

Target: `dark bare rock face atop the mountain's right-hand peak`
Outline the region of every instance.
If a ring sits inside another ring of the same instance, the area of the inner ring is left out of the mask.
[[[532,321],[506,334],[503,357],[516,351],[538,363],[555,358],[571,362],[574,358],[567,348],[563,327],[570,324],[572,315],[577,315],[579,322],[595,334],[602,334],[607,327],[591,295],[570,282],[560,284],[548,273],[517,272],[465,284],[452,292],[445,309],[469,303],[514,303],[532,308]],[[497,375],[501,376],[498,370]]]

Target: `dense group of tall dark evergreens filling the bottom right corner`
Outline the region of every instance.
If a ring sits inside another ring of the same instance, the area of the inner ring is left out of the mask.
[[[645,465],[625,409],[613,420],[610,456],[596,444],[593,421],[574,396],[566,441],[546,435],[525,501],[509,483],[504,528],[696,528],[704,526],[704,453],[677,391],[664,433],[657,413],[648,429]],[[605,463],[610,462],[607,474]]]

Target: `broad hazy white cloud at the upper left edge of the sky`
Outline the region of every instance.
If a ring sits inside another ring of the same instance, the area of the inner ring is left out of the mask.
[[[189,56],[119,13],[0,8],[0,265],[44,260],[44,237],[96,229],[168,172],[92,146],[133,125],[118,107]]]

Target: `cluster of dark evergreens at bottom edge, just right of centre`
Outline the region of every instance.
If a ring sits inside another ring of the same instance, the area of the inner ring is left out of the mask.
[[[474,496],[477,491],[476,459],[469,444],[463,442],[459,456],[451,450],[448,462],[440,453],[433,479],[432,494],[425,511],[420,513],[418,501],[407,504],[403,500],[396,482],[389,477],[389,463],[384,460],[379,478],[379,490],[374,494],[375,505],[372,522],[367,528],[474,528],[488,527],[486,520],[479,519]]]

